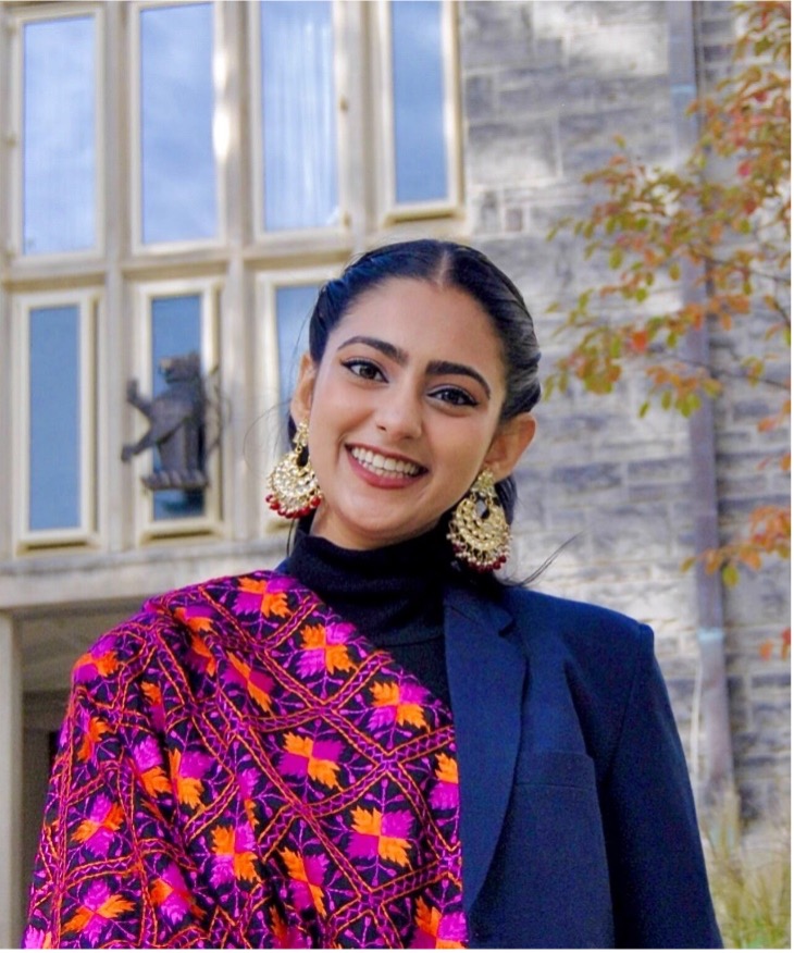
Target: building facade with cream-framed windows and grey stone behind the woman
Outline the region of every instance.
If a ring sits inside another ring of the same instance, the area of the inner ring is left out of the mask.
[[[0,3],[3,943],[76,658],[148,595],[285,553],[264,481],[322,283],[388,240],[471,242],[521,287],[550,362],[549,304],[597,275],[549,226],[584,207],[616,134],[680,161],[733,28],[720,2]],[[207,480],[152,488],[151,449],[122,459],[149,426],[129,382],[154,398],[191,352]],[[641,387],[538,409],[511,571],[567,543],[535,585],[655,628],[699,790],[692,434],[640,419]],[[764,399],[737,384],[715,408],[724,532],[787,494],[758,466],[779,440],[755,430]],[[759,653],[787,624],[787,567],[720,601],[732,771],[762,819],[787,803],[787,666]]]

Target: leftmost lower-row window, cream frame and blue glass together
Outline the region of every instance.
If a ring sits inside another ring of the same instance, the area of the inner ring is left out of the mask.
[[[94,337],[96,298],[35,295],[17,301],[21,356],[15,485],[24,547],[86,542],[95,529]]]

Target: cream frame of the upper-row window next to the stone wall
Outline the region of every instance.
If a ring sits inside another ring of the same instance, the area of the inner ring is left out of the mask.
[[[442,199],[422,202],[398,202],[396,185],[396,153],[394,137],[394,84],[392,63],[390,4],[405,0],[375,0],[373,8],[373,47],[370,60],[373,69],[375,153],[377,157],[376,203],[381,227],[417,219],[438,219],[461,215],[461,113],[458,89],[457,12],[454,0],[442,2],[442,67],[444,77],[444,137],[447,146],[447,195]]]

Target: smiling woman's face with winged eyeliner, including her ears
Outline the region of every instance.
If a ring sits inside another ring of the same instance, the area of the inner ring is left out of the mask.
[[[499,425],[504,399],[499,338],[468,294],[392,279],[362,295],[320,366],[305,356],[293,398],[324,497],[312,533],[397,543],[432,529],[484,465],[507,477],[534,421]]]

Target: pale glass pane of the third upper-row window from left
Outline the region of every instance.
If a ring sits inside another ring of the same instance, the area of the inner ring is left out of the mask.
[[[262,0],[264,228],[339,221],[332,4]]]

